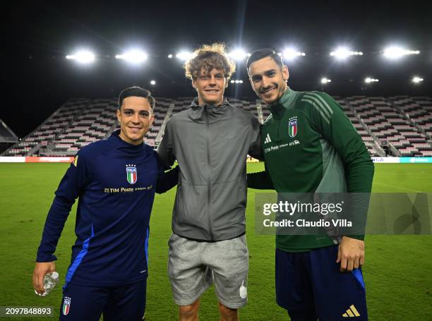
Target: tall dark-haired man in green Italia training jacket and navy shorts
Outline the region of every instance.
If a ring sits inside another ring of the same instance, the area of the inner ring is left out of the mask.
[[[290,89],[288,68],[271,49],[253,52],[246,68],[253,90],[271,111],[261,128],[266,171],[249,174],[248,187],[370,193],[373,162],[335,99]],[[277,303],[292,320],[367,320],[363,239],[276,236]]]

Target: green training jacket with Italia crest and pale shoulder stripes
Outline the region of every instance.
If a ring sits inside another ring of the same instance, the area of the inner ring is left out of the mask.
[[[324,92],[288,88],[269,107],[271,114],[261,128],[266,171],[248,174],[248,187],[278,193],[371,192],[371,156],[335,99]],[[276,236],[276,247],[287,252],[335,243],[325,235]]]

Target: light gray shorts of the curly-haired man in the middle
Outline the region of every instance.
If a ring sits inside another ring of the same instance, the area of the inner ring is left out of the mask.
[[[249,253],[246,236],[198,242],[172,234],[168,241],[168,275],[177,305],[190,305],[215,283],[220,303],[246,305]]]

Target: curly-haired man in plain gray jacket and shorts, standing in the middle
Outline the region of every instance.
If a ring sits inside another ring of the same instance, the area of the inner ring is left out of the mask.
[[[214,283],[221,320],[246,305],[246,157],[261,157],[256,116],[229,104],[235,71],[224,44],[205,45],[186,65],[198,97],[174,114],[157,150],[180,174],[169,238],[168,273],[180,320],[198,320],[199,298]]]

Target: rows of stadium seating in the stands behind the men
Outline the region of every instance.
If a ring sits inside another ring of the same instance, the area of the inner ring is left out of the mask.
[[[159,97],[155,121],[145,141],[157,147],[172,114],[187,109],[192,97]],[[432,156],[431,97],[335,97],[372,156]],[[260,122],[270,110],[259,99],[229,99]],[[107,138],[117,127],[117,99],[70,99],[4,156],[73,156],[83,146]],[[0,135],[3,133],[0,127]]]

